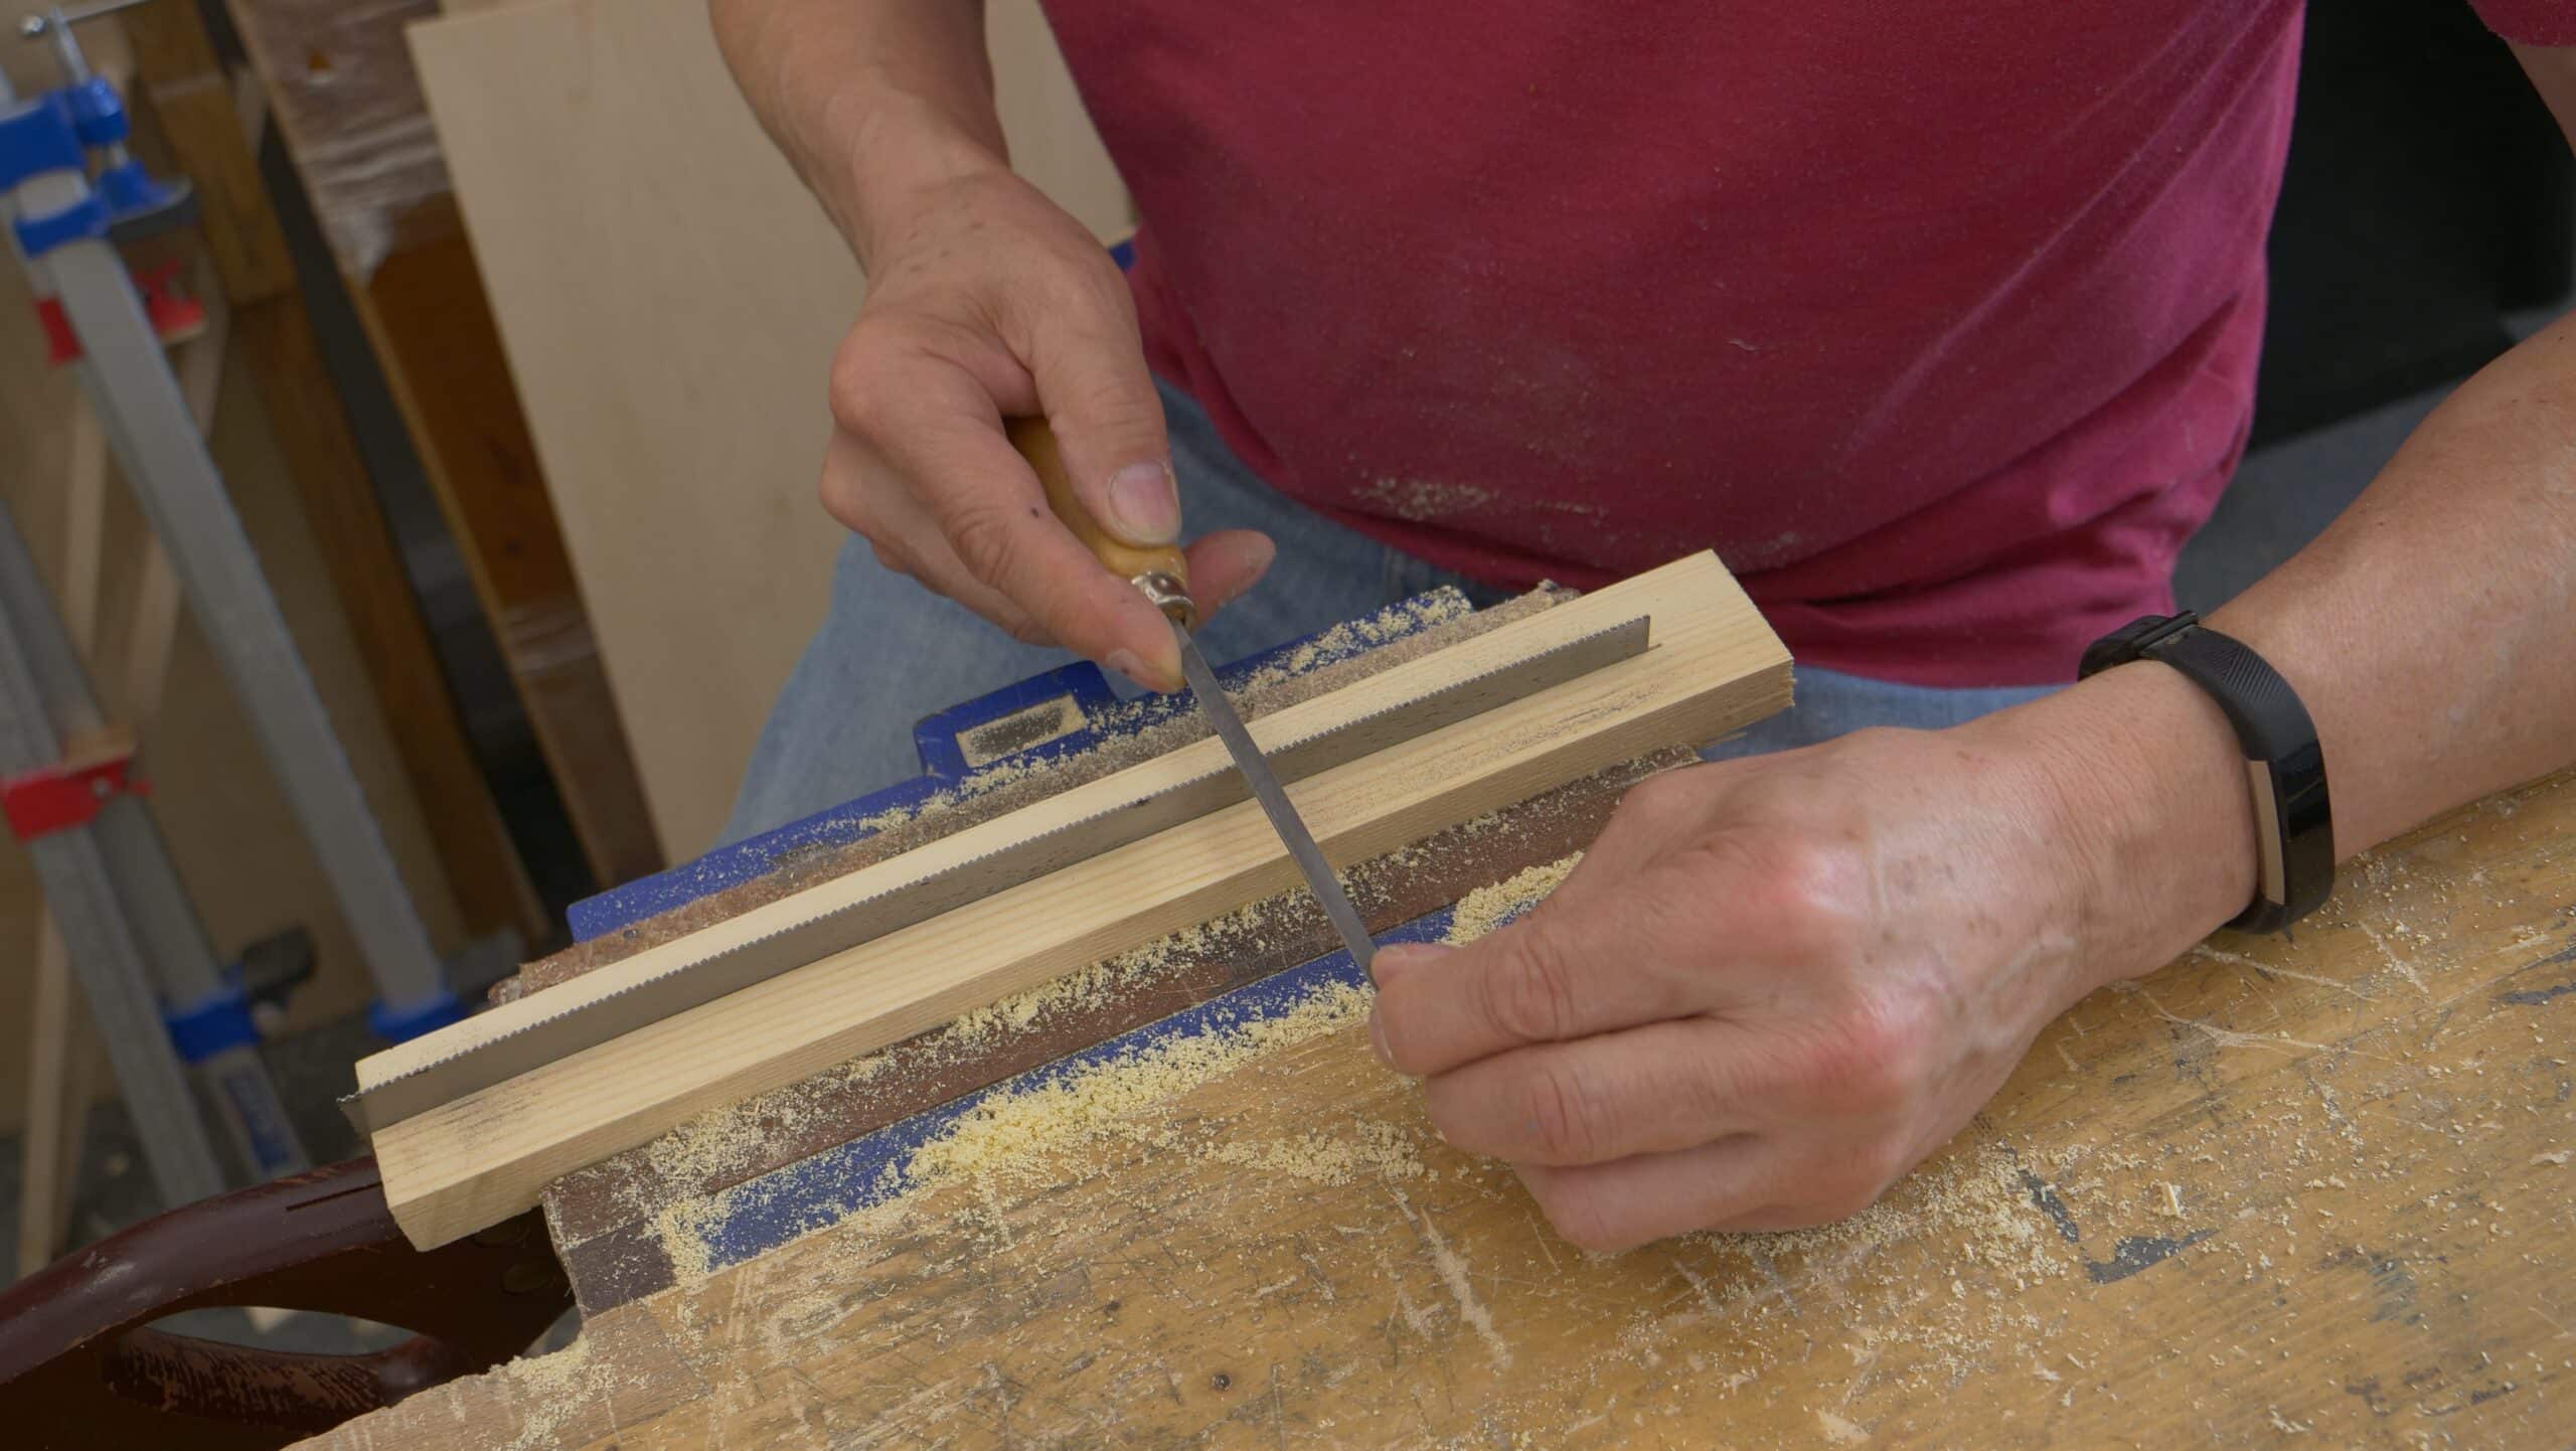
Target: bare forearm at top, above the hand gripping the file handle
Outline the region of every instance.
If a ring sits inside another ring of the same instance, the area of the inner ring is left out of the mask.
[[[981,0],[708,0],[752,113],[860,265],[907,198],[1007,168]]]

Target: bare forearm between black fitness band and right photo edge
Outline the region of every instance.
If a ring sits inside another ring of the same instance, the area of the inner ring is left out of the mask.
[[[2344,515],[2210,616],[2326,747],[2334,848],[2576,760],[2576,314],[2488,363]]]

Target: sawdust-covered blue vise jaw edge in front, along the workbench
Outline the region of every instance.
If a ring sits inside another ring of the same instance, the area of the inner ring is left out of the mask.
[[[1378,933],[1378,943],[1437,941],[1448,936],[1453,912],[1455,907],[1440,907],[1437,912],[1414,918],[1412,923]],[[886,1204],[889,1198],[899,1198],[914,1188],[912,1162],[922,1147],[940,1139],[951,1124],[974,1113],[976,1106],[994,1095],[1046,1088],[1092,1067],[1151,1052],[1170,1041],[1226,1033],[1267,1018],[1283,1018],[1321,992],[1342,985],[1363,987],[1365,982],[1365,974],[1360,974],[1360,966],[1350,961],[1347,951],[1334,951],[1301,966],[1275,972],[1260,982],[1247,982],[1244,987],[1211,997],[1195,1008],[1185,1008],[1157,1023],[1118,1033],[1115,1039],[1061,1057],[1046,1067],[1033,1067],[992,1088],[969,1093],[938,1108],[925,1108],[873,1134],[850,1139],[848,1144],[726,1188],[714,1198],[719,1214],[711,1216],[711,1222],[683,1224],[672,1232],[698,1237],[706,1253],[706,1268],[719,1271],[724,1265],[739,1265],[742,1260],[775,1250],[799,1235],[827,1229],[853,1214]]]

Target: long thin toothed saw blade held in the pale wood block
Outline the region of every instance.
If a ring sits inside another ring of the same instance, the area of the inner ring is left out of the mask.
[[[1267,753],[1270,771],[1278,781],[1303,781],[1394,740],[1427,735],[1494,706],[1535,696],[1602,665],[1641,655],[1646,642],[1646,616],[1558,642],[1409,701],[1283,740]],[[1115,776],[1105,776],[1103,781],[1115,781]],[[940,871],[889,884],[881,892],[842,902],[775,933],[670,964],[613,992],[582,997],[559,1013],[531,1018],[507,1033],[482,1039],[474,1046],[361,1088],[343,1098],[340,1108],[361,1134],[376,1134],[389,1124],[495,1088],[549,1062],[752,987],[755,982],[925,923],[940,912],[1100,856],[1103,850],[1206,817],[1244,802],[1247,791],[1247,781],[1234,768],[1234,760],[1218,758],[1218,763],[1185,781],[1118,802]],[[544,1000],[546,995],[538,992],[523,1003]]]

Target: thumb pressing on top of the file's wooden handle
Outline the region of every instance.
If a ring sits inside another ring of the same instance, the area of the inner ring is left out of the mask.
[[[1126,544],[1180,544],[1162,397],[1131,317],[1051,327],[1030,366],[1074,497]]]

